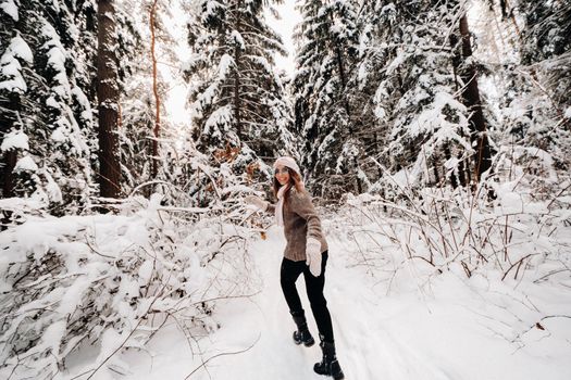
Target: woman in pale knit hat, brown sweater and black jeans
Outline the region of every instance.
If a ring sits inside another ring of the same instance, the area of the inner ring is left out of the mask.
[[[245,201],[262,211],[273,212],[277,225],[284,227],[286,248],[282,261],[281,282],[289,313],[297,326],[297,330],[294,331],[294,342],[303,343],[308,347],[314,343],[296,288],[296,280],[303,274],[323,352],[323,359],[321,363],[315,363],[313,370],[320,375],[332,376],[335,380],[344,379],[335,355],[333,326],[327,302],[323,295],[327,242],[321,230],[321,220],[311,203],[311,198],[303,188],[299,166],[295,160],[287,156],[280,157],[273,167],[275,170],[273,190],[277,204],[270,204],[253,195],[246,197]]]

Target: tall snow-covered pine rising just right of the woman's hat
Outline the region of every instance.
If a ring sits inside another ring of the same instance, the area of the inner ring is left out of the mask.
[[[325,197],[364,190],[360,123],[348,93],[358,41],[356,5],[352,0],[306,0],[299,5],[296,126],[305,141],[305,175],[313,192]]]

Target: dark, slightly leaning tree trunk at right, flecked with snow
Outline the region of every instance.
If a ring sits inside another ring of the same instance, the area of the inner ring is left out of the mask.
[[[477,87],[477,73],[473,64],[467,64],[467,61],[472,55],[472,47],[470,43],[470,30],[468,28],[468,18],[466,14],[460,17],[460,36],[462,38],[462,56],[460,60],[460,67],[457,67],[457,71],[462,78],[464,86],[462,89],[463,103],[471,113],[469,118],[471,130],[470,139],[472,147],[476,147],[476,154],[474,156],[474,178],[476,181],[480,181],[482,173],[486,172],[492,166],[492,152],[487,139],[486,121],[482,111],[480,89]]]

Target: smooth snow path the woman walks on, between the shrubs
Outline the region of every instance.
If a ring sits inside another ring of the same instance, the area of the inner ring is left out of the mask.
[[[374,280],[362,268],[347,268],[347,257],[339,252],[342,244],[332,242],[330,239],[325,295],[346,379],[571,378],[571,366],[566,364],[566,355],[571,353],[569,337],[569,344],[563,342],[558,351],[549,352],[549,346],[529,350],[531,344],[517,350],[498,337],[502,316],[491,319],[479,315],[479,295],[474,290],[463,290],[461,280],[454,277],[434,281],[433,291],[444,296],[432,301],[423,302],[413,293],[377,294]],[[202,355],[196,355],[197,343],[190,351],[176,327],[170,326],[153,340],[147,355],[122,356],[131,367],[126,378],[184,379],[196,369],[190,379],[326,379],[312,371],[313,363],[321,357],[318,344],[308,349],[291,342],[294,322],[278,277],[284,244],[275,227],[269,230],[266,240],[252,244],[262,291],[216,308],[221,328],[198,343]],[[302,281],[300,277],[298,289],[316,339]],[[569,325],[563,328],[569,331]],[[544,338],[536,337],[535,341]],[[209,358],[201,366],[201,360]],[[100,378],[109,378],[109,373]]]

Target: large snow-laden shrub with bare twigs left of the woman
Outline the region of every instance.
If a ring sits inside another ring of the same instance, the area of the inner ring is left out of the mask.
[[[215,329],[215,300],[251,292],[247,233],[161,199],[132,198],[119,215],[29,216],[0,233],[0,377],[53,378],[89,345],[95,364],[74,373],[121,372],[116,354],[166,320]]]

